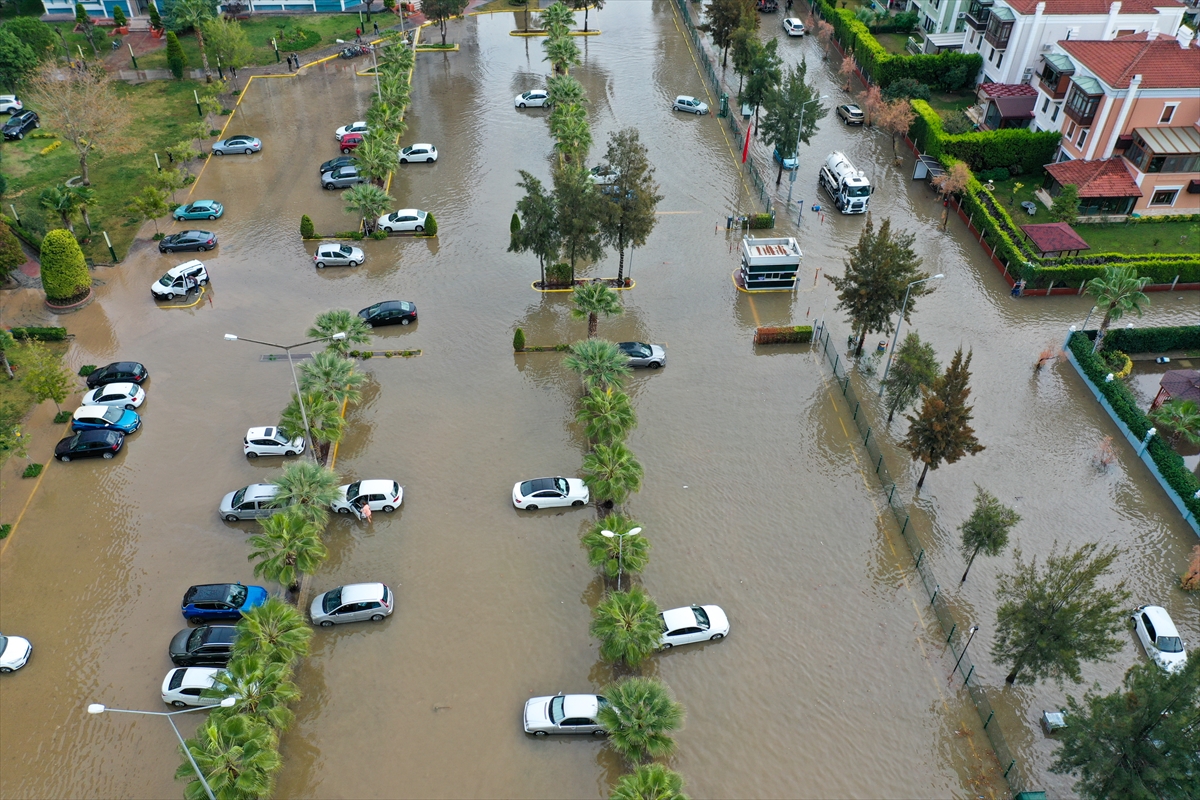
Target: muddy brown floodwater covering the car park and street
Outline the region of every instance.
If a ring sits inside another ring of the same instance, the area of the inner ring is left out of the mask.
[[[622,293],[625,313],[600,327],[670,354],[665,369],[629,381],[638,414],[630,446],[646,468],[629,507],[653,542],[643,582],[665,607],[714,602],[732,622],[726,640],[647,668],[686,708],[672,766],[701,798],[1003,796],[826,368],[806,348],[756,350],[751,337],[757,324],[811,321],[826,308],[834,339],[845,338],[815,271],[841,271],[863,218],[808,211],[817,160],[844,149],[878,187],[876,218],[917,231],[926,269],[947,276],[920,299],[912,327],[943,360],[959,344],[974,350],[988,450],[932,473],[914,501],[935,570],[949,584],[961,569],[956,528],[978,482],[1022,515],[1014,545],[1028,554],[1055,540],[1121,543],[1135,600],[1166,606],[1196,642],[1198,601],[1172,589],[1195,536],[1132,451],[1118,446],[1105,473],[1091,467],[1115,432],[1069,368],[1032,373],[1038,351],[1090,302],[1010,297],[960,223],[937,230],[941,207],[908,180],[911,158],[890,166],[884,136],[832,116],[802,154],[803,219],[780,217],[805,251],[798,290],[739,294],[724,218],[751,210],[733,155],[740,143],[715,116],[670,112],[674,95],[706,94],[677,10],[630,1],[590,19],[604,34],[580,41],[584,61],[572,72],[590,101],[592,161],[610,132],[637,126],[665,198],[650,241],[632,257],[637,287]],[[778,35],[774,24],[764,22],[763,36]],[[85,705],[160,710],[184,589],[252,579],[253,527],[221,522],[216,505],[276,473],[270,459],[247,462],[239,445],[247,427],[275,422],[290,380],[284,363],[262,362],[257,345],[222,333],[299,342],[320,311],[386,299],[416,302],[420,323],[380,331],[377,349],[424,355],[364,365],[371,383],[349,413],[337,471],[398,480],[406,501],[370,527],[336,521],[313,584],[384,581],[397,610],[380,625],[317,632],[276,795],[598,798],[623,772],[602,742],[521,730],[529,696],[599,690],[611,673],[587,633],[601,593],[578,546],[592,512],[518,513],[509,499],[521,477],[576,474],[583,449],[571,422],[576,380],[559,355],[515,356],[512,331],[524,327],[533,344],[586,331],[570,319],[569,296],[530,290],[534,259],[505,252],[516,170],[548,179],[551,163],[546,113],[511,104],[544,85],[546,64],[540,43],[510,37],[512,28],[510,14],[473,17],[451,25],[461,52],[418,56],[404,140],[433,142],[442,157],[402,168],[392,194],[396,207],[437,215],[436,241],[368,241],[364,266],[313,269],[313,245],[296,225],[308,213],[319,230],[353,227],[316,170],[336,155],[334,128],[361,119],[372,90],[370,78],[332,61],[254,80],[228,133],[260,136],[263,154],[214,158],[196,185],[193,198],[227,207],[211,223],[221,247],[204,259],[212,275],[204,302],[156,307],[150,282],[184,259],[140,247],[97,272],[96,302],[62,318],[76,335],[72,367],[137,359],[152,378],[145,426],[125,452],[49,464],[4,545],[0,627],[35,648],[28,667],[0,681],[4,798],[178,796],[178,746],[162,720],[91,717]],[[784,37],[780,50],[790,62],[806,55],[829,103],[842,102],[816,41]],[[769,152],[756,144],[754,157],[766,170]],[[612,255],[586,270],[614,272]],[[34,293],[6,293],[2,303],[6,321],[49,318]],[[1135,321],[1194,323],[1198,312],[1194,295],[1162,294]],[[869,389],[876,379],[862,380]],[[43,449],[59,435],[48,416],[40,409],[34,420]],[[901,431],[894,423],[886,435]],[[916,470],[899,456],[889,463],[911,495]],[[4,471],[6,494],[23,505],[13,469]],[[22,511],[8,498],[0,504],[5,521]],[[1003,669],[988,661],[996,575],[1009,564],[983,559],[965,588],[949,591],[962,619],[983,626],[972,655],[1006,734],[1040,786],[1069,796],[1069,778],[1046,772],[1054,747],[1036,728],[1064,692],[1003,690]],[[1111,688],[1141,658],[1130,637],[1085,678]],[[181,721],[185,730],[196,724]]]

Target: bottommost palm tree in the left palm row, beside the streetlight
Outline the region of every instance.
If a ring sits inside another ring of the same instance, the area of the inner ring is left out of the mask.
[[[283,765],[277,745],[278,736],[269,724],[245,714],[210,715],[186,742],[217,800],[270,796],[275,774]],[[186,800],[206,796],[191,763],[185,760],[179,765],[175,780],[188,782],[184,787]]]

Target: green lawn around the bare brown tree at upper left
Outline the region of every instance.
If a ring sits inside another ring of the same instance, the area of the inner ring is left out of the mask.
[[[96,235],[83,245],[84,253],[97,261],[109,261],[112,257],[104,246],[101,230],[107,230],[119,257],[128,251],[140,222],[125,206],[128,198],[137,194],[149,182],[155,172],[154,154],[158,152],[167,164],[166,149],[181,142],[185,127],[197,121],[192,89],[202,84],[191,80],[155,80],[138,86],[116,83],[116,91],[128,103],[133,122],[125,139],[136,143],[127,154],[92,155],[88,160],[91,188],[98,205],[89,211]],[[216,121],[215,127],[222,122]],[[53,130],[42,127],[42,132]],[[22,224],[44,234],[50,228],[61,227],[59,218],[38,207],[37,198],[48,186],[66,182],[79,174],[79,158],[74,148],[64,142],[48,155],[41,150],[58,139],[31,139],[4,144],[2,170],[8,179],[4,204],[17,206]],[[86,233],[86,227],[76,221],[77,234]]]

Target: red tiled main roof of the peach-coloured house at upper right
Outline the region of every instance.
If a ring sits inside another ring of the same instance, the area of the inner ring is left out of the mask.
[[[1141,76],[1142,89],[1200,89],[1200,48],[1180,47],[1174,37],[1148,40],[1145,34],[1106,42],[1058,42],[1078,62],[1114,89],[1128,89]]]

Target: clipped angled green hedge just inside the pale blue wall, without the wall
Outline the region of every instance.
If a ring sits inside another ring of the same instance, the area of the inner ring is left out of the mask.
[[[1126,338],[1120,339],[1123,344],[1116,344],[1126,353],[1129,350],[1126,347],[1135,343],[1140,336],[1144,342],[1148,342],[1153,338],[1153,329],[1133,329],[1130,330],[1116,330],[1109,333],[1110,337],[1116,337],[1118,333],[1126,335]],[[1200,326],[1192,326],[1189,329],[1182,327],[1164,327],[1158,329],[1157,342],[1200,342]],[[1092,381],[1097,390],[1104,395],[1109,404],[1112,405],[1112,410],[1116,411],[1121,421],[1129,426],[1129,432],[1139,439],[1145,438],[1146,432],[1153,427],[1146,415],[1140,408],[1138,408],[1138,401],[1134,398],[1133,392],[1126,386],[1122,380],[1106,381],[1104,378],[1109,374],[1108,366],[1099,359],[1099,356],[1092,354],[1092,337],[1087,336],[1085,332],[1072,333],[1068,339],[1068,347],[1074,354],[1075,360],[1079,362],[1080,368],[1082,368],[1084,374],[1087,379]],[[1136,349],[1134,353],[1139,351]],[[1154,437],[1150,441],[1147,451],[1151,458],[1154,459],[1154,464],[1158,467],[1158,471],[1162,473],[1163,479],[1166,481],[1175,492],[1182,498],[1183,505],[1187,506],[1192,513],[1200,517],[1200,500],[1195,499],[1195,493],[1200,489],[1200,481],[1196,476],[1183,465],[1183,459],[1177,452],[1171,450],[1160,437]]]

